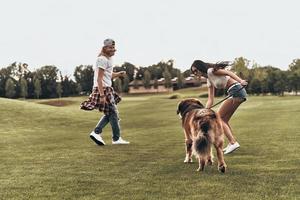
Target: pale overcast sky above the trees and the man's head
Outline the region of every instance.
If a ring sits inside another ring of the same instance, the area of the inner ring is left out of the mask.
[[[0,67],[94,65],[105,38],[115,64],[174,59],[188,69],[243,56],[287,69],[300,58],[298,0],[1,0]]]

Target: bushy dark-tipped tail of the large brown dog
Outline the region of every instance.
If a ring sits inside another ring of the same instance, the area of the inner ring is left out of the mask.
[[[210,153],[211,144],[213,143],[213,136],[211,134],[212,129],[211,119],[203,119],[199,122],[199,132],[196,138],[193,140],[194,151],[202,156],[207,156]]]

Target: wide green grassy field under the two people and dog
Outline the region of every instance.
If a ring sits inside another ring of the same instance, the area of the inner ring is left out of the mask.
[[[183,163],[179,99],[169,96],[124,97],[131,144],[113,146],[107,126],[101,147],[89,138],[101,114],[79,110],[85,98],[0,98],[0,199],[300,199],[300,97],[250,97],[231,120],[241,148],[221,174]]]

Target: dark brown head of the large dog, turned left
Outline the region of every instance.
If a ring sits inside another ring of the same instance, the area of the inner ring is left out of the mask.
[[[193,109],[201,109],[204,108],[203,104],[194,98],[184,99],[182,100],[177,107],[177,115],[184,117],[186,113]]]

